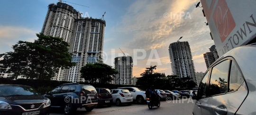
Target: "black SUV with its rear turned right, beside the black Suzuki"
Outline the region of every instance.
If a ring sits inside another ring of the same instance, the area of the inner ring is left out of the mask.
[[[62,108],[65,115],[71,115],[77,108],[82,107],[91,111],[98,104],[96,89],[79,83],[62,84],[46,93],[45,97],[51,100],[51,107]]]

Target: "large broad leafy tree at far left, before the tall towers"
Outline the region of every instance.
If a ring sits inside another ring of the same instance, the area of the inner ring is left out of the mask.
[[[12,46],[14,52],[0,54],[0,67],[13,73],[11,78],[22,75],[30,79],[50,80],[60,68],[68,69],[75,65],[69,43],[62,38],[36,34],[35,42],[18,41]]]

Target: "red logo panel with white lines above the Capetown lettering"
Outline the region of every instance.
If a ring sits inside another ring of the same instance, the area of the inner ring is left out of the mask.
[[[213,20],[219,37],[223,43],[232,30],[236,27],[235,20],[229,10],[226,0],[219,0],[213,13]]]

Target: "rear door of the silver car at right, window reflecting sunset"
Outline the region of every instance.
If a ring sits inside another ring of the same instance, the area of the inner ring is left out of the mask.
[[[202,115],[234,115],[247,96],[246,83],[233,58],[216,63],[210,73],[209,91]]]

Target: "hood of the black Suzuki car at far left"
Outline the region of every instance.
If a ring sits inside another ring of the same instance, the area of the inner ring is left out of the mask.
[[[0,101],[9,103],[10,105],[19,105],[19,104],[34,104],[34,103],[43,103],[47,101],[46,97],[41,95],[37,96],[9,96],[9,97],[0,97]]]

